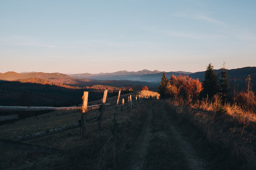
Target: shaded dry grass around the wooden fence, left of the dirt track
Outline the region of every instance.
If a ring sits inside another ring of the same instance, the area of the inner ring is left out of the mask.
[[[114,103],[114,100],[113,98],[110,102]],[[112,105],[104,112],[104,116],[112,114],[114,108],[115,105]],[[77,128],[26,141],[59,148],[61,153],[44,154],[0,148],[0,169],[118,169],[117,167],[125,166],[125,152],[140,134],[145,113],[144,107],[134,108],[129,113],[125,111],[124,114],[119,111],[117,121],[113,122],[112,118],[103,121],[102,130],[99,131],[96,131],[97,122],[89,122],[83,139],[80,139]],[[45,114],[38,118],[20,120],[1,126],[0,137],[9,139],[73,124],[78,122],[80,114],[61,113],[57,116],[56,113],[51,113],[49,117]],[[99,111],[92,111],[88,113],[88,117],[98,114]]]

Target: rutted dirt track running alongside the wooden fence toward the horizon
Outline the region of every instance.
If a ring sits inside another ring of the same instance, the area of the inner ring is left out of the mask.
[[[182,135],[163,102],[157,101],[153,106],[148,109],[148,119],[127,170],[206,170],[206,161],[198,156],[197,150]]]

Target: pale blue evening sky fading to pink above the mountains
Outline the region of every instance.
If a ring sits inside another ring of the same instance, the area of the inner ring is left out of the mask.
[[[255,0],[0,0],[0,72],[256,66]]]

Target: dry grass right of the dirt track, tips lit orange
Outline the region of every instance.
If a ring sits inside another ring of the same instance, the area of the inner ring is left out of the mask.
[[[219,163],[228,169],[256,169],[256,115],[237,105],[225,104],[226,112],[216,114],[214,102],[203,100],[195,104],[182,99],[166,101],[166,107],[180,121],[189,122],[218,150]]]

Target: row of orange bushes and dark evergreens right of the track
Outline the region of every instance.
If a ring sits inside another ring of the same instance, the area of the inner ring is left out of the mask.
[[[162,99],[180,97],[189,102],[195,102],[198,99],[218,100],[219,105],[230,102],[240,105],[244,110],[256,111],[256,95],[252,90],[253,84],[250,75],[245,80],[245,84],[246,89],[237,92],[234,85],[234,90],[231,91],[230,78],[224,62],[218,75],[215,73],[212,63],[209,63],[202,82],[187,75],[178,77],[172,75],[170,79],[167,79],[163,73],[158,89]]]

